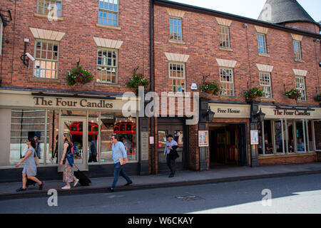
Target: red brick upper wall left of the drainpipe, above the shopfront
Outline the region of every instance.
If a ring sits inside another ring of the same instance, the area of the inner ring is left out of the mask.
[[[91,90],[122,93],[132,90],[126,87],[133,68],[146,76],[149,71],[149,1],[119,1],[119,27],[121,30],[98,28],[98,1],[63,1],[63,21],[49,21],[35,17],[36,0],[0,2],[1,9],[10,9],[13,21],[4,28],[3,56],[0,58],[2,68],[1,86],[21,86],[32,88],[56,88],[65,90]],[[138,13],[139,12],[139,13]],[[32,62],[29,71],[20,60],[24,52],[24,38],[29,38],[27,52],[34,56],[34,36],[29,27],[66,33],[60,41],[58,81],[53,83],[46,79],[32,80]],[[98,86],[96,82],[97,46],[93,37],[123,41],[118,51],[118,86]],[[13,57],[13,58],[12,58]],[[80,58],[83,68],[91,71],[94,80],[85,86],[67,86],[66,72],[76,66]],[[13,64],[12,64],[13,63]],[[12,68],[12,71],[11,71]],[[112,88],[112,89],[111,89]]]

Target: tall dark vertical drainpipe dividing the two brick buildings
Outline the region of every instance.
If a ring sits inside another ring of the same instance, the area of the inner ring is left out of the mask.
[[[153,5],[154,1],[150,0],[149,1],[149,61],[150,61],[150,90],[153,91],[153,16],[154,16],[154,11],[153,11]],[[151,136],[154,136],[155,139],[155,134],[153,133],[153,123],[154,123],[154,118],[151,118]],[[154,144],[151,144],[151,174],[154,174]]]

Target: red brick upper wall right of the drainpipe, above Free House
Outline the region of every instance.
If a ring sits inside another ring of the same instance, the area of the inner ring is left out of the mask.
[[[186,11],[183,16],[183,41],[185,45],[168,42],[169,15],[165,7],[155,6],[155,76],[156,91],[168,90],[168,60],[164,52],[189,55],[186,66],[186,84],[190,91],[191,83],[198,86],[203,76],[210,74],[210,81],[219,81],[219,66],[215,58],[238,61],[234,68],[235,98],[228,100],[244,101],[244,92],[248,88],[259,86],[256,63],[274,66],[271,73],[272,96],[276,103],[295,103],[283,93],[295,87],[295,75],[292,68],[307,70],[307,104],[318,105],[313,97],[320,93],[318,63],[321,59],[320,43],[314,38],[302,39],[304,63],[294,59],[292,36],[290,33],[269,28],[267,32],[267,51],[270,58],[258,56],[258,38],[254,25],[243,28],[243,23],[233,21],[230,26],[230,44],[233,49],[221,51],[219,48],[218,22],[214,16]],[[285,86],[284,86],[285,85]],[[220,96],[200,93],[212,100],[226,100]]]

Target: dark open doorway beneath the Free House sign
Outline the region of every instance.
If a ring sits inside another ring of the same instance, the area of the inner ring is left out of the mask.
[[[210,126],[210,167],[247,165],[245,125]]]

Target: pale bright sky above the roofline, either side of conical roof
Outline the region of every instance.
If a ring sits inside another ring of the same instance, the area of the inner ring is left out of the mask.
[[[258,19],[266,0],[169,0]],[[312,19],[321,21],[321,0],[297,0]]]

